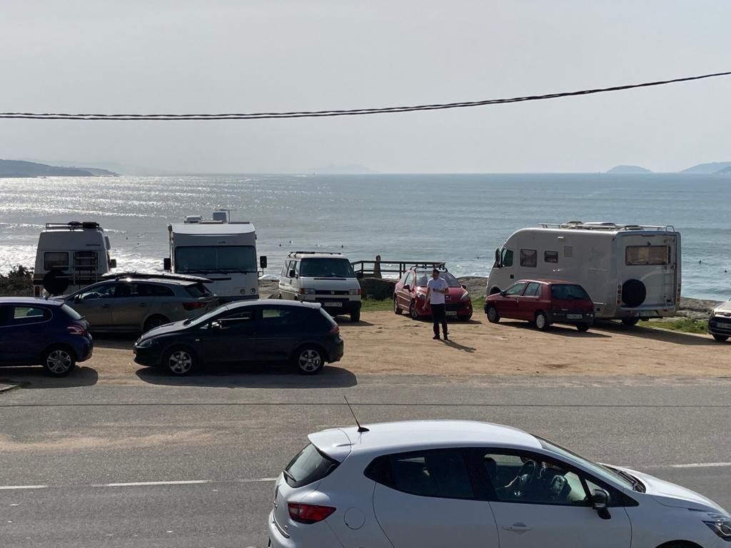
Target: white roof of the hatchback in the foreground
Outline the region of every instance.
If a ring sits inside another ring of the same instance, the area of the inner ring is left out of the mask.
[[[320,451],[334,458],[344,458],[344,452],[379,455],[452,446],[541,448],[534,435],[490,422],[420,420],[384,422],[366,427],[368,432],[364,433],[359,433],[357,427],[324,430],[311,434],[309,439]]]

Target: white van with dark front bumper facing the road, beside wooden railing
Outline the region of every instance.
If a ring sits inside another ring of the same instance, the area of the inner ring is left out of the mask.
[[[280,299],[319,302],[331,316],[360,320],[360,283],[350,261],[339,253],[292,251],[279,276]]]

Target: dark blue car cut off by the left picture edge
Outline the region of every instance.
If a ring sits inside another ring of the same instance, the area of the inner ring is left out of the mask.
[[[64,376],[91,357],[86,319],[62,301],[0,297],[0,367],[42,365]]]

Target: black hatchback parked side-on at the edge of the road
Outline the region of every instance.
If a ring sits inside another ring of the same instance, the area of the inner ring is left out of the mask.
[[[343,357],[339,331],[318,303],[232,302],[146,332],[135,343],[135,362],[187,375],[210,363],[289,360],[303,375],[314,375]]]

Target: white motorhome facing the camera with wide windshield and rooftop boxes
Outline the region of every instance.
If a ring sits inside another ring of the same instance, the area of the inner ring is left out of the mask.
[[[248,221],[231,221],[229,210],[214,211],[210,221],[187,216],[167,226],[170,257],[164,270],[200,275],[220,302],[259,298],[257,232]],[[267,266],[262,256],[260,267]]]

